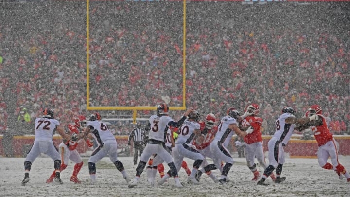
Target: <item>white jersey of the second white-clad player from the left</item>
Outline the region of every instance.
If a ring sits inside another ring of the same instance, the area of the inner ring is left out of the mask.
[[[92,126],[94,130],[97,130],[98,132],[91,131],[92,134],[95,135],[97,142],[101,143],[99,139],[101,139],[102,143],[105,143],[107,141],[116,141],[114,135],[109,130],[107,124],[105,124],[102,121],[95,120],[95,121],[88,121],[87,127]]]

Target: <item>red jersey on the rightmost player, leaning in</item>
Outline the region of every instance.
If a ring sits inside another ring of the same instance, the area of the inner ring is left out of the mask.
[[[318,146],[322,146],[333,140],[333,134],[328,129],[326,119],[322,115],[318,115],[318,117],[322,118],[323,125],[311,126],[311,130],[314,133]]]

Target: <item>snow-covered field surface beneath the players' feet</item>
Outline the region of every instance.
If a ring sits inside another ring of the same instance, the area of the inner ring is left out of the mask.
[[[136,165],[133,165],[132,157],[120,157],[130,177],[136,173]],[[183,169],[179,172],[180,180],[185,188],[175,188],[174,179],[161,186],[151,186],[147,182],[146,172],[141,175],[140,183],[135,188],[128,188],[128,184],[115,166],[105,157],[96,164],[97,183],[90,185],[88,178],[88,158],[83,158],[82,167],[78,178],[81,184],[69,181],[73,171],[74,163],[70,161],[69,166],[61,173],[63,185],[46,183],[46,179],[52,173],[53,161],[47,157],[38,157],[32,165],[30,181],[26,186],[21,186],[24,177],[24,158],[0,158],[0,196],[4,197],[349,197],[350,183],[346,179],[340,180],[334,171],[324,170],[318,166],[317,159],[290,159],[286,158],[283,165],[282,176],[286,176],[285,182],[275,184],[269,178],[266,183],[269,186],[260,186],[251,181],[253,177],[245,164],[245,158],[234,158],[236,161],[228,176],[231,182],[220,185],[213,183],[207,176],[203,175],[200,185],[188,185],[187,176]],[[187,160],[192,166],[193,161]],[[346,169],[350,170],[350,156],[339,156],[339,161]],[[211,162],[209,160],[209,162]],[[165,166],[165,170],[168,167]],[[262,174],[262,167],[259,166]],[[213,172],[217,177],[219,171]],[[157,175],[157,179],[159,176]]]

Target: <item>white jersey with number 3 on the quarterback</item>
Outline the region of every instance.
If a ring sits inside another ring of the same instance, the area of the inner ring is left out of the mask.
[[[169,116],[152,115],[149,118],[151,130],[149,132],[148,139],[165,142],[166,132],[169,128],[168,123],[170,121],[173,121],[173,119]]]

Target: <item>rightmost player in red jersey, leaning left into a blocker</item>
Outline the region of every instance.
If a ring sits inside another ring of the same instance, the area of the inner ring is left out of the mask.
[[[342,164],[339,163],[338,148],[333,138],[333,134],[329,131],[326,119],[322,115],[322,108],[319,105],[312,105],[306,112],[306,117],[311,117],[316,114],[318,118],[310,121],[304,125],[298,125],[299,130],[310,127],[314,133],[314,137],[318,143],[317,158],[318,164],[327,170],[334,170],[339,179],[343,179],[343,175],[350,182],[350,175]],[[331,158],[331,163],[327,162],[328,158]]]

